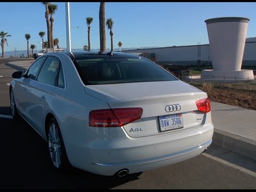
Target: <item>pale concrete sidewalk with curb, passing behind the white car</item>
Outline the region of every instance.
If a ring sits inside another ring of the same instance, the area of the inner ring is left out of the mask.
[[[27,70],[34,60],[6,65]],[[256,160],[256,110],[211,102],[214,133],[212,145]]]

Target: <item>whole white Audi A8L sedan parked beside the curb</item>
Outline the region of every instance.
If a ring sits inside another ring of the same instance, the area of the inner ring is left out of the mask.
[[[123,177],[185,161],[212,142],[207,94],[138,55],[46,53],[12,76],[12,116],[47,142],[57,170]]]

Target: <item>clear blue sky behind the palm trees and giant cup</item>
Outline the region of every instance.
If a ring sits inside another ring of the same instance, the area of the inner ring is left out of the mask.
[[[54,38],[59,38],[60,47],[67,47],[66,3],[52,2],[58,9],[53,15]],[[70,2],[71,48],[83,49],[87,41],[86,18],[92,17],[91,49],[99,49],[99,2]],[[0,2],[0,31],[10,34],[5,51],[26,50],[25,34],[30,34],[30,44],[42,49],[39,31],[45,31],[45,6],[41,2]],[[105,18],[112,18],[114,49],[129,47],[166,47],[209,44],[206,19],[218,17],[249,18],[247,38],[256,37],[256,2],[106,2]],[[79,27],[79,28],[78,28]],[[111,47],[109,30],[106,27],[106,45]],[[1,50],[2,51],[2,50]]]

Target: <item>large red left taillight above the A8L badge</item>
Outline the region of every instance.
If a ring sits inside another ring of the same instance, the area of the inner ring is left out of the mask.
[[[89,126],[119,127],[131,123],[142,115],[142,108],[119,108],[93,110],[89,115]]]

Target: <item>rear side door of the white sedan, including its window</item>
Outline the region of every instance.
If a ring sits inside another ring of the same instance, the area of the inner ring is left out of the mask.
[[[56,87],[60,60],[56,57],[49,56],[43,63],[37,81],[30,84],[29,95],[26,107],[31,125],[41,134],[44,134],[44,121],[47,111],[51,106],[48,101],[51,98]]]

